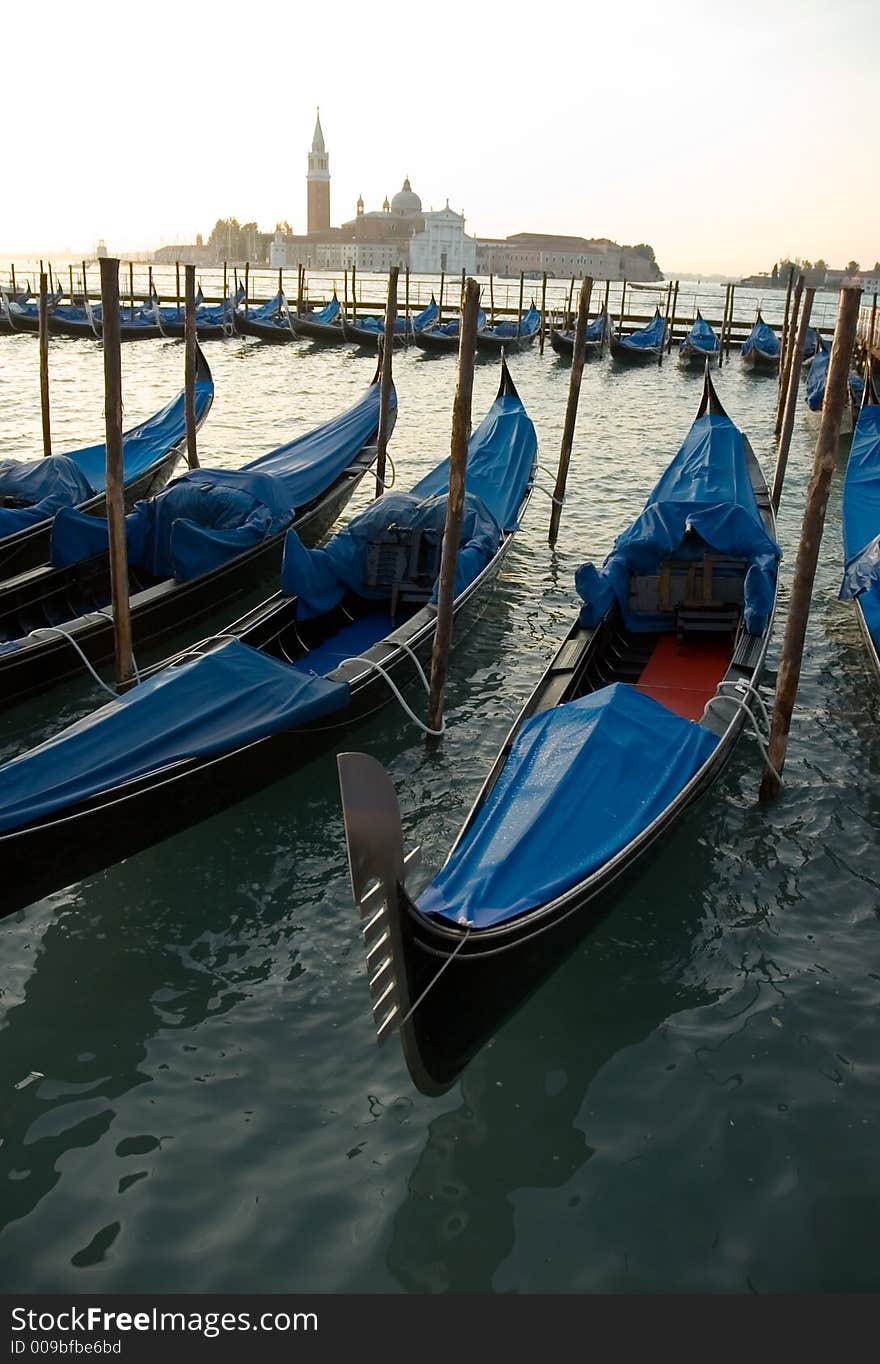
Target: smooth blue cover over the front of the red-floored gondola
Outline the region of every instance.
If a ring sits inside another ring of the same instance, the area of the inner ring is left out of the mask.
[[[532,716],[419,910],[479,929],[550,903],[643,833],[716,743],[625,682]]]

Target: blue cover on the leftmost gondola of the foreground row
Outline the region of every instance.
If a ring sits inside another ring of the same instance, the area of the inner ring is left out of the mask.
[[[195,386],[195,415],[201,421],[211,405],[210,379]],[[184,398],[179,393],[156,416],[123,435],[123,479],[134,483],[186,435]],[[0,506],[0,537],[48,521],[64,507],[87,502],[106,486],[106,447],[91,445],[70,454],[19,462],[0,462],[0,498],[25,502],[20,507]]]

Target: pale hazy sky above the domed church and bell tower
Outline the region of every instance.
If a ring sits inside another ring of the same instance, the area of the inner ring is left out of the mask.
[[[226,216],[303,232],[319,104],[334,224],[409,175],[478,236],[649,241],[667,273],[872,266],[876,16],[876,0],[48,0],[34,30],[14,0],[0,261],[98,237],[126,255]]]

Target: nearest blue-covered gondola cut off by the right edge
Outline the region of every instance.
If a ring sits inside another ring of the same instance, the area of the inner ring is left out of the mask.
[[[853,602],[875,675],[880,681],[880,401],[865,383],[843,480],[840,600]]]

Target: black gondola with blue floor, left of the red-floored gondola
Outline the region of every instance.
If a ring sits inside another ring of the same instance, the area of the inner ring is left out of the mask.
[[[469,442],[457,636],[512,544],[536,450],[505,370]],[[443,461],[411,494],[385,494],[322,550],[291,532],[280,595],[4,764],[0,915],[338,747],[387,705],[430,657],[448,477]]]

